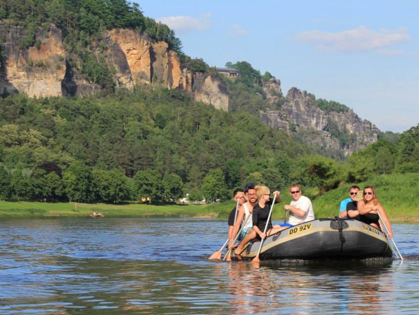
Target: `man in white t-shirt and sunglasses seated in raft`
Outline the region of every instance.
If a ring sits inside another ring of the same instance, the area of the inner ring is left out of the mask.
[[[301,195],[300,186],[292,184],[289,187],[292,201],[285,205],[284,209],[289,210],[289,224],[297,225],[303,222],[314,220],[314,210],[311,200]]]

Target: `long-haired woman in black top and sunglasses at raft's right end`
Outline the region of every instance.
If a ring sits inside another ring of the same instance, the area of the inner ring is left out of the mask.
[[[350,217],[356,217],[359,215],[359,221],[369,224],[381,231],[385,231],[381,226],[378,213],[381,215],[383,223],[386,225],[389,231],[388,236],[393,237],[393,231],[387,213],[383,206],[379,203],[373,186],[366,186],[364,188],[363,198],[362,200],[358,201],[357,210],[348,211],[348,215]]]

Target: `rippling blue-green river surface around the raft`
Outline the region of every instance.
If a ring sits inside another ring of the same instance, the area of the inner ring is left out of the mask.
[[[0,314],[418,314],[419,231],[399,260],[211,262],[226,222],[0,222]]]

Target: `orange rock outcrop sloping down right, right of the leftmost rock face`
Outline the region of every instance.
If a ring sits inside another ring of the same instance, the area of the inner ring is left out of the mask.
[[[161,84],[169,89],[178,88],[195,100],[228,110],[228,94],[224,83],[207,73],[182,69],[176,52],[169,50],[166,42],[153,43],[146,36],[132,30],[109,32],[108,60],[117,70],[118,84]],[[119,50],[124,54],[122,58]],[[117,56],[117,57],[116,57]]]

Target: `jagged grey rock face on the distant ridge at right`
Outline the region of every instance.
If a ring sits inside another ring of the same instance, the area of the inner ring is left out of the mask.
[[[267,96],[269,98],[269,96]],[[262,111],[260,118],[273,128],[286,131],[299,131],[303,140],[314,145],[343,150],[344,155],[365,148],[378,140],[378,128],[366,120],[360,119],[352,109],[346,112],[325,112],[318,108],[315,99],[306,91],[292,87],[280,110]],[[334,124],[342,133],[353,139],[343,147],[336,137],[327,131]]]

